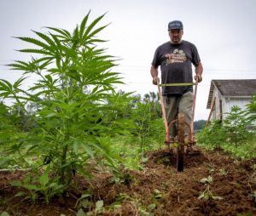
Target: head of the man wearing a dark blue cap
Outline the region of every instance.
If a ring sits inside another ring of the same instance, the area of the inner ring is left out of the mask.
[[[181,43],[183,37],[183,23],[179,20],[174,20],[168,24],[169,36],[171,43]]]

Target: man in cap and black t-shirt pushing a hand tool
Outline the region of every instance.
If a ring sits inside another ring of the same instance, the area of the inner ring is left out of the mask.
[[[153,84],[158,82],[158,66],[160,65],[162,83],[192,83],[192,64],[195,66],[195,80],[201,82],[202,65],[197,48],[193,43],[182,40],[183,23],[179,20],[168,24],[170,41],[163,43],[155,50],[150,73]],[[193,86],[163,86],[162,95],[165,104],[167,122],[177,118],[178,112],[183,112],[185,122],[191,122],[193,106]],[[189,134],[189,127],[185,127],[185,134]],[[177,136],[174,125],[170,129],[171,138]],[[171,140],[172,140],[171,139]]]

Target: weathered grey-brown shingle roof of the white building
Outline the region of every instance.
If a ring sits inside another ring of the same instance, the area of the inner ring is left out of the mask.
[[[247,97],[256,94],[256,79],[212,80],[207,101],[207,109],[211,108],[213,89],[217,88],[223,96]]]

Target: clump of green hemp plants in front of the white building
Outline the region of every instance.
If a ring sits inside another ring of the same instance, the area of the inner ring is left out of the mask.
[[[233,106],[223,123],[212,121],[196,134],[199,145],[208,149],[222,148],[242,159],[255,157],[256,137],[253,131],[247,130],[251,123],[248,115],[248,112]]]

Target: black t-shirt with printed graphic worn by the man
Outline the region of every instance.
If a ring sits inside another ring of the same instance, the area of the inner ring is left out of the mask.
[[[166,59],[166,54],[172,54],[171,60]],[[182,41],[179,44],[163,43],[155,50],[152,65],[160,65],[162,83],[193,82],[192,65],[200,63],[197,48],[193,43]],[[185,94],[192,91],[193,86],[163,87],[162,94]]]

